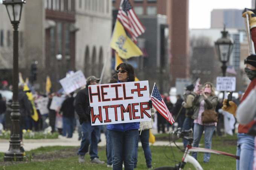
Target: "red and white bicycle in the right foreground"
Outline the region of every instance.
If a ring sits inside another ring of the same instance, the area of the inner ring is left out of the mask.
[[[176,164],[175,167],[165,166],[165,167],[155,168],[154,170],[183,170],[186,163],[192,164],[195,167],[196,170],[203,170],[200,163],[194,157],[189,155],[190,152],[219,154],[219,155],[226,155],[226,156],[229,156],[229,157],[233,157],[233,158],[236,158],[237,160],[240,159],[239,156],[229,154],[229,153],[226,153],[226,152],[216,151],[216,150],[213,150],[213,149],[192,147],[193,137],[188,136],[190,133],[192,133],[192,130],[181,130],[181,128],[178,128],[177,130],[172,132],[173,142],[174,142],[175,146],[177,146],[178,149],[180,149],[180,147],[178,147],[178,145],[176,145],[175,140],[174,140],[174,136],[177,136],[175,139],[181,138],[181,139],[187,140],[189,142],[187,144],[186,148],[185,148],[185,151],[184,151],[181,162],[178,162],[178,164]],[[180,150],[182,151],[182,149],[180,149]]]

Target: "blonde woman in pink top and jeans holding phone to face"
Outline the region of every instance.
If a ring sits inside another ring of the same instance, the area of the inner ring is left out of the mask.
[[[201,140],[203,131],[204,131],[204,145],[206,149],[212,148],[212,135],[214,129],[217,125],[214,123],[203,123],[202,122],[202,113],[204,110],[213,109],[218,103],[218,97],[215,96],[215,89],[210,82],[204,84],[203,89],[198,89],[196,91],[197,95],[195,96],[192,104],[195,106],[194,114],[192,118],[194,119],[194,131],[193,131],[193,147],[198,147]],[[204,162],[208,163],[210,160],[210,153],[204,153]],[[197,159],[197,152],[192,152],[192,157]]]

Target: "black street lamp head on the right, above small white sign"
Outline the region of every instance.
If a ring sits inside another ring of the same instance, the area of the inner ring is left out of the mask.
[[[222,63],[221,69],[222,69],[223,77],[225,77],[226,69],[227,69],[226,63],[227,61],[229,61],[230,54],[233,50],[234,42],[232,38],[227,37],[228,31],[225,30],[225,26],[224,26],[224,30],[221,31],[221,34],[222,34],[222,37],[215,42],[215,49],[219,56],[219,60]]]

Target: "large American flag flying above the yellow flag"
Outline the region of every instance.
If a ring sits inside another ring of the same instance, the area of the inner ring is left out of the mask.
[[[131,34],[131,38],[137,43],[136,37],[145,32],[145,27],[135,14],[133,7],[128,0],[123,0],[120,5],[117,19],[123,24],[123,27]]]

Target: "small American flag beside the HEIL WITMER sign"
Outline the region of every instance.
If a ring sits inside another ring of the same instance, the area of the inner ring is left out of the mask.
[[[171,124],[174,123],[174,119],[172,118],[171,113],[169,112],[163,98],[161,97],[160,92],[157,89],[157,86],[154,84],[153,91],[150,97],[152,100],[152,105],[157,109],[157,111],[168,120]]]

